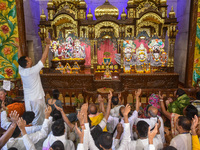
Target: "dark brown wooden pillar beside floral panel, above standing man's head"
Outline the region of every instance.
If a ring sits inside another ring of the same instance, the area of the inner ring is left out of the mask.
[[[16,11],[17,11],[17,22],[18,22],[18,34],[19,34],[19,45],[23,55],[28,55],[26,49],[26,29],[24,20],[24,6],[23,0],[16,0]]]

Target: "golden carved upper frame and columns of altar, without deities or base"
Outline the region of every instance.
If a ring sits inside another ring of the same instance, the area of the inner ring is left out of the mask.
[[[173,7],[167,17],[167,0],[129,0],[127,14],[123,12],[118,19],[118,9],[112,6],[108,0],[95,9],[97,20],[89,11],[86,15],[87,5],[84,0],[50,0],[47,3],[48,19],[44,13],[41,15],[40,31],[42,44],[44,38],[51,34],[53,39],[58,38],[58,33],[74,33],[78,37],[89,38],[91,41],[91,69],[97,65],[97,39],[101,33],[114,32],[118,38],[118,52],[122,49],[125,38],[134,38],[144,28],[165,41],[168,35],[168,72],[174,71],[174,46],[177,35],[177,19]],[[87,17],[86,17],[87,16]],[[112,29],[112,30],[111,30]],[[122,54],[122,51],[121,51]],[[123,68],[123,57],[121,58]],[[49,67],[49,62],[46,62]]]

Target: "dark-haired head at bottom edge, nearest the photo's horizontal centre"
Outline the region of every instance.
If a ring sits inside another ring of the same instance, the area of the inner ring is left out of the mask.
[[[100,145],[105,149],[110,149],[112,147],[113,137],[109,132],[103,132],[96,141],[96,146],[102,149]]]

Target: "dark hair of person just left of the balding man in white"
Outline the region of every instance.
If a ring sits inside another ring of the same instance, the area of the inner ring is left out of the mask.
[[[145,121],[138,121],[137,123],[137,131],[140,137],[147,137],[148,135],[148,129],[149,129],[149,124],[146,123]]]

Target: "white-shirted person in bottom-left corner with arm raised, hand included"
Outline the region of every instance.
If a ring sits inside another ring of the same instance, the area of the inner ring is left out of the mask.
[[[45,109],[45,120],[42,124],[41,130],[29,134],[30,140],[33,142],[33,144],[38,143],[41,139],[45,138],[48,134],[48,124],[49,124],[49,116],[51,113],[51,107],[48,106]],[[17,120],[18,121],[18,120]],[[25,150],[26,147],[23,142],[23,137],[20,136],[20,129],[17,127],[12,135],[12,137],[9,139],[9,141],[5,144],[5,146],[2,148],[2,150],[8,150],[11,147],[15,147],[18,150]],[[36,149],[38,149],[36,147]]]

